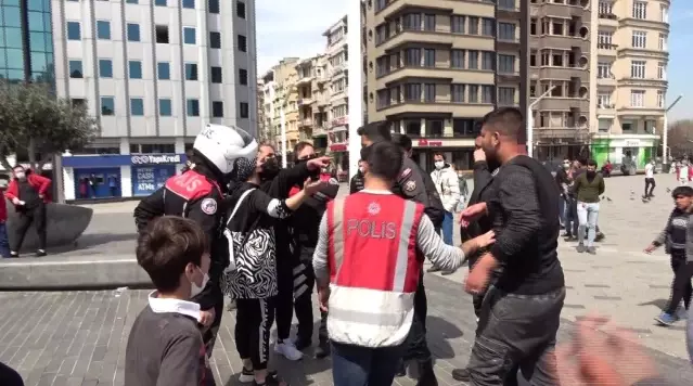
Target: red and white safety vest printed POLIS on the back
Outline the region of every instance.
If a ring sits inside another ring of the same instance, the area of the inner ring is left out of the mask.
[[[330,338],[390,347],[409,334],[421,261],[423,205],[359,192],[328,204]]]

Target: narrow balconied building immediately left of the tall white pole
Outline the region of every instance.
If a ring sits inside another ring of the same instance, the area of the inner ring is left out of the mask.
[[[346,173],[349,164],[347,153],[349,133],[349,55],[347,46],[347,17],[343,16],[334,23],[323,36],[328,39],[325,48],[326,78],[330,92],[330,111],[328,114],[328,137],[330,152],[335,157],[337,170]]]

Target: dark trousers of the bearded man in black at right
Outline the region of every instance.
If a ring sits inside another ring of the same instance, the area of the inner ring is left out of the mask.
[[[531,385],[557,385],[554,351],[564,299],[565,288],[529,296],[491,286],[467,365],[470,384],[502,386],[519,369]]]

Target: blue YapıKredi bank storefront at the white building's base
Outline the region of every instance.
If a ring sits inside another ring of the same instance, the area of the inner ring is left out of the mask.
[[[146,196],[184,163],[184,154],[64,156],[65,200]]]

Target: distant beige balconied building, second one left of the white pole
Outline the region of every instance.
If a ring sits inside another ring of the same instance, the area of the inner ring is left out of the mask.
[[[318,55],[296,65],[299,139],[311,142],[319,152],[324,152],[328,147],[325,126],[330,95],[325,87],[325,64],[324,55]]]

